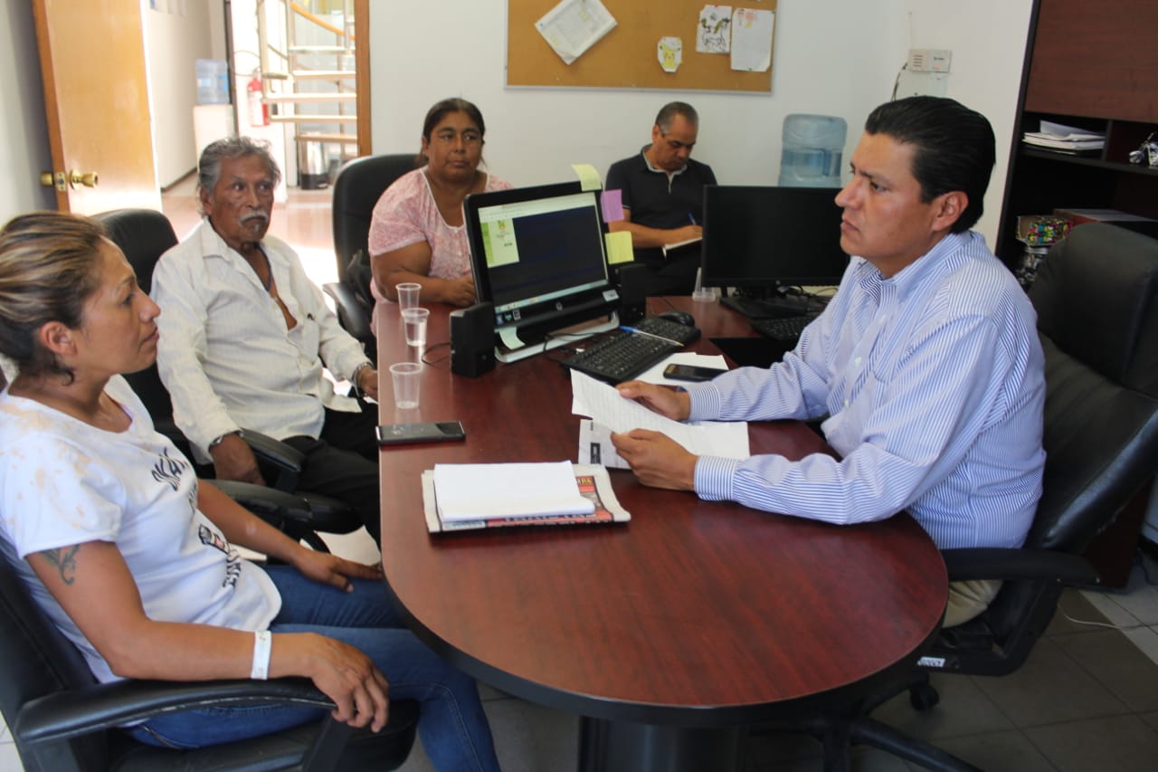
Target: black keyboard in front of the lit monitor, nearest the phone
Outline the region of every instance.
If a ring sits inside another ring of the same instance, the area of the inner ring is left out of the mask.
[[[655,316],[642,320],[636,329],[650,334],[615,330],[579,354],[563,359],[562,364],[592,378],[618,384],[699,340],[698,328]]]

